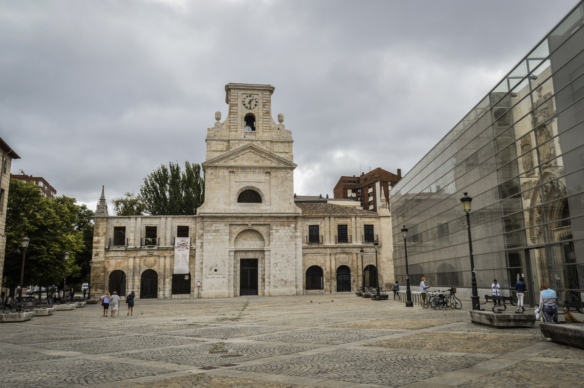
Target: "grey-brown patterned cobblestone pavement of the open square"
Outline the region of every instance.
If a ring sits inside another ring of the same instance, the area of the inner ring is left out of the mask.
[[[463,307],[470,306],[463,300]],[[352,293],[137,300],[0,324],[0,388],[580,387],[584,349]],[[577,314],[580,320],[582,314]]]

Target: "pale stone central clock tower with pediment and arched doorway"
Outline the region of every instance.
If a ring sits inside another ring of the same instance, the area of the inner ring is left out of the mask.
[[[228,114],[208,128],[205,202],[197,215],[203,296],[302,293],[292,134],[272,118],[270,85],[228,83]],[[199,264],[200,263],[200,264]]]

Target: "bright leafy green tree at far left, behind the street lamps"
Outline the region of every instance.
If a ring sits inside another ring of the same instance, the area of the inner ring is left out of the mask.
[[[26,285],[60,285],[64,278],[65,251],[70,254],[67,274],[80,275],[77,256],[89,251],[91,257],[91,243],[87,246],[84,231],[79,230],[82,224],[87,228],[79,219],[79,211],[84,207],[75,202],[74,198],[64,195],[54,199],[45,198],[33,183],[11,179],[6,212],[3,280],[12,294],[20,282],[22,253],[19,249],[24,236],[30,239],[23,278]],[[89,215],[86,208],[81,214],[86,222]]]

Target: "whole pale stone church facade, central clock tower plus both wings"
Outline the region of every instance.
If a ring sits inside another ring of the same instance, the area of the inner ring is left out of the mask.
[[[391,215],[295,203],[293,139],[272,118],[273,86],[225,86],[207,129],[205,201],[194,216],[95,215],[91,292],[225,298],[355,291],[394,281]],[[377,244],[374,244],[377,243]],[[387,285],[387,286],[385,286]]]

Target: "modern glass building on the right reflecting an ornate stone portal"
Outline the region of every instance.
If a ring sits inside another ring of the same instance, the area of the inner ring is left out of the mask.
[[[526,280],[584,296],[584,5],[580,2],[391,190],[394,267],[470,299],[467,221],[479,296]]]

